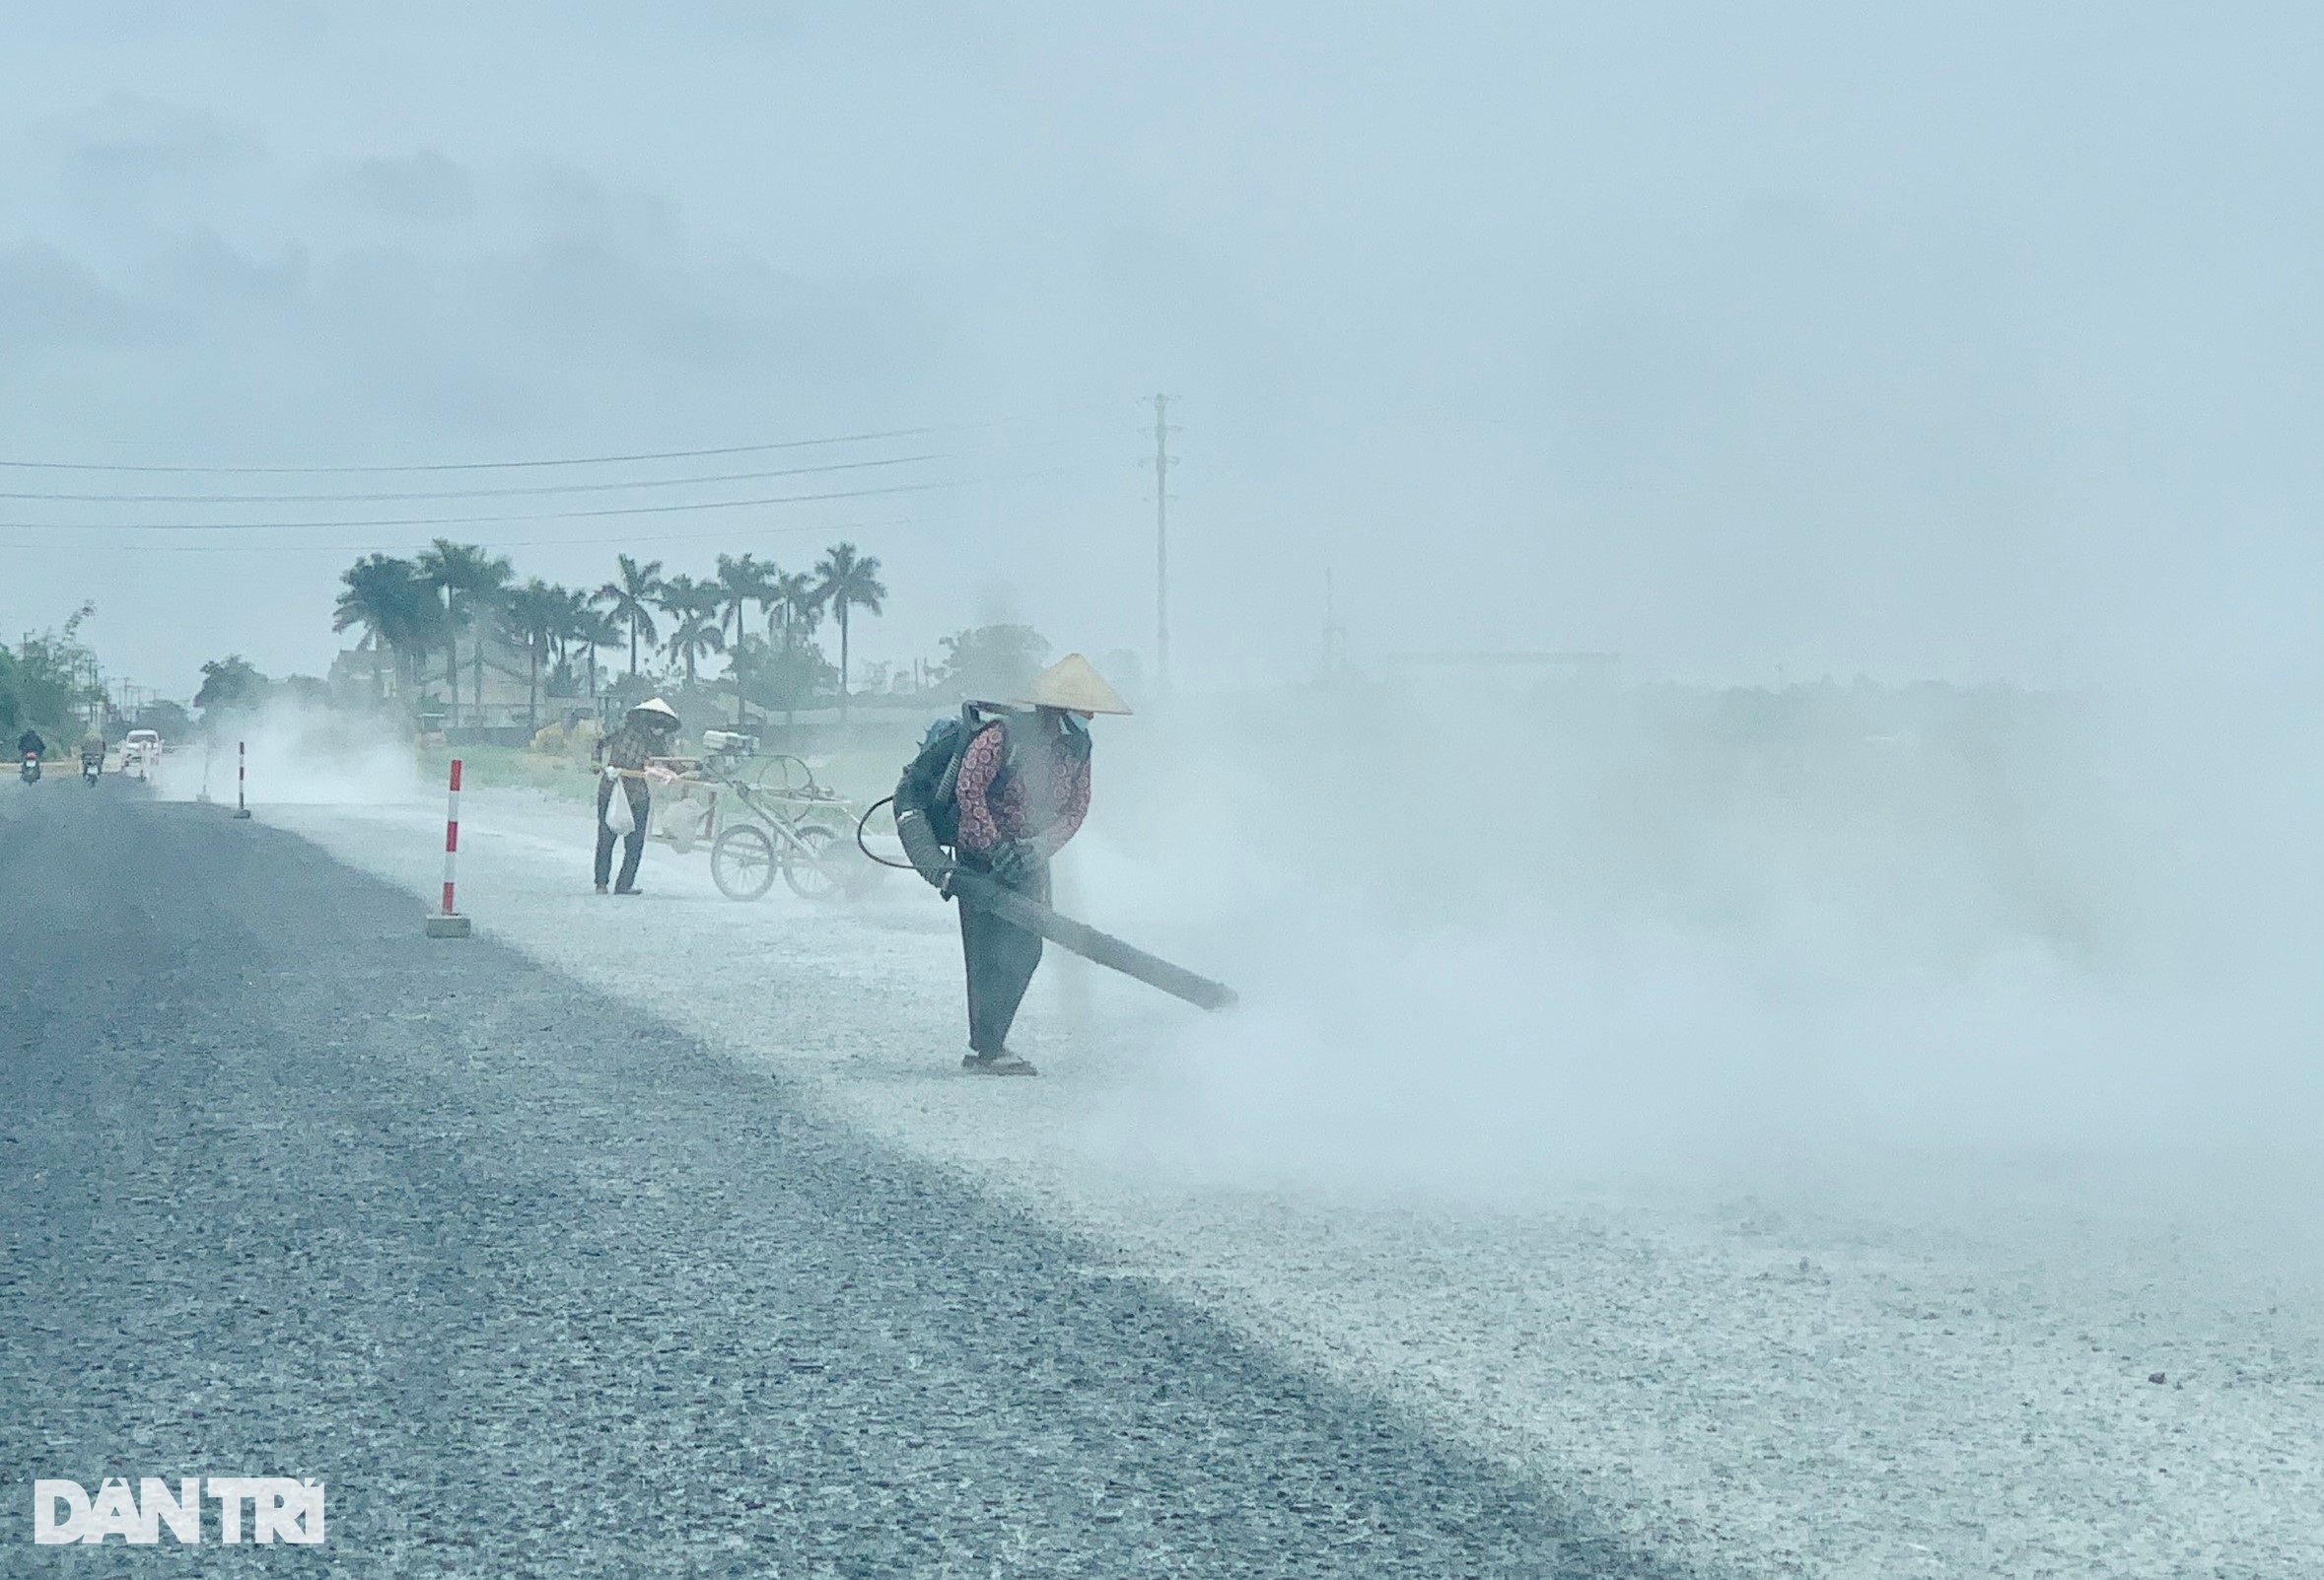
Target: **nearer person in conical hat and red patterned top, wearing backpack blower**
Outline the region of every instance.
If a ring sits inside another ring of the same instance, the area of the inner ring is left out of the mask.
[[[946,899],[964,871],[1048,906],[1048,862],[1090,811],[1090,718],[1127,711],[1090,660],[1067,653],[1016,706],[969,702],[960,718],[939,720],[895,788],[904,855]],[[1041,934],[962,902],[960,953],[969,983],[960,1066],[1039,1073],[1009,1048],[1009,1027],[1041,964]]]

